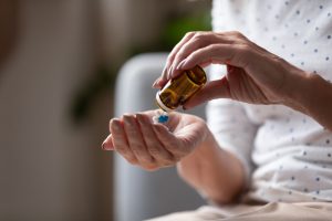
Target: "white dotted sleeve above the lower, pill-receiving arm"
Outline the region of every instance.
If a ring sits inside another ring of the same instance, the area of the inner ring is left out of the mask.
[[[220,78],[220,65],[211,66],[211,80]],[[220,148],[234,154],[243,165],[247,186],[252,171],[251,150],[257,126],[240,103],[214,99],[207,105],[207,122]]]

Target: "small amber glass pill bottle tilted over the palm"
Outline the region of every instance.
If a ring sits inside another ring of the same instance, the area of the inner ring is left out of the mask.
[[[165,112],[175,110],[186,103],[207,82],[205,71],[196,65],[186,70],[169,82],[156,94],[157,105]]]

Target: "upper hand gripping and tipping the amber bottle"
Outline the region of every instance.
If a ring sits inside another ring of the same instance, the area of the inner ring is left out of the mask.
[[[190,32],[170,52],[165,70],[154,86],[163,87],[181,70],[211,63],[226,64],[227,74],[208,83],[185,108],[214,98],[231,98],[251,104],[294,104],[294,82],[307,73],[258,46],[239,32]]]

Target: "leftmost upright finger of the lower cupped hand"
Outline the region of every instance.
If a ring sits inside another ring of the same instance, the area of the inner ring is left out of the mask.
[[[121,154],[128,162],[135,165],[137,159],[134,152],[129,149],[126,135],[123,129],[123,125],[120,119],[112,119],[110,124],[110,130],[112,133],[114,149]]]

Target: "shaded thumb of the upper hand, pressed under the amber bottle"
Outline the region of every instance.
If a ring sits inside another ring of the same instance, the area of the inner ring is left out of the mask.
[[[226,76],[221,80],[209,82],[184,104],[184,109],[193,108],[216,98],[230,98],[229,84]]]

